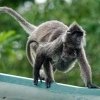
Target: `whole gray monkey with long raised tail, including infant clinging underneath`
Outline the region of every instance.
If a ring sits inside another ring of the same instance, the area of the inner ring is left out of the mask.
[[[68,27],[52,20],[35,26],[11,8],[0,7],[0,13],[14,17],[29,34],[26,55],[34,69],[34,85],[38,85],[38,79],[45,79],[46,87],[50,88],[55,81],[53,73],[56,70],[68,72],[78,62],[85,86],[99,88],[92,83],[92,71],[84,49],[86,33],[78,23],[74,22]]]

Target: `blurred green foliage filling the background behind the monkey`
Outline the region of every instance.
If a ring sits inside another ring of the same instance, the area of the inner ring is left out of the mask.
[[[87,34],[85,49],[93,71],[93,82],[100,84],[100,0],[47,0],[45,3],[1,0],[0,6],[13,8],[35,25],[48,20],[59,20],[66,25],[77,21]],[[28,34],[11,16],[0,14],[0,72],[32,77],[33,69],[25,54],[27,37]],[[67,74],[56,72],[55,80],[84,86],[78,64]]]

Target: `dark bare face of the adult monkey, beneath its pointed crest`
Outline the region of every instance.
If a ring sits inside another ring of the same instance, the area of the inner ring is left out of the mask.
[[[79,48],[82,44],[83,32],[74,31],[67,34],[66,45],[72,48]]]

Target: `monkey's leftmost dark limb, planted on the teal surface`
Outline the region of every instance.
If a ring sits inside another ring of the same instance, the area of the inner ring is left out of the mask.
[[[42,53],[37,53],[36,59],[35,59],[35,65],[34,65],[34,85],[38,85],[38,79],[40,78],[40,69],[45,61],[45,56]]]

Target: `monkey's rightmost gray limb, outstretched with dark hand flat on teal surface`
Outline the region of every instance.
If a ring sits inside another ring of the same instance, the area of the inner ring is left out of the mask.
[[[92,84],[92,71],[91,71],[91,67],[88,63],[88,60],[86,58],[85,50],[83,47],[80,48],[80,50],[79,50],[78,61],[80,64],[82,78],[85,82],[85,85],[88,88],[98,88],[98,86]]]

